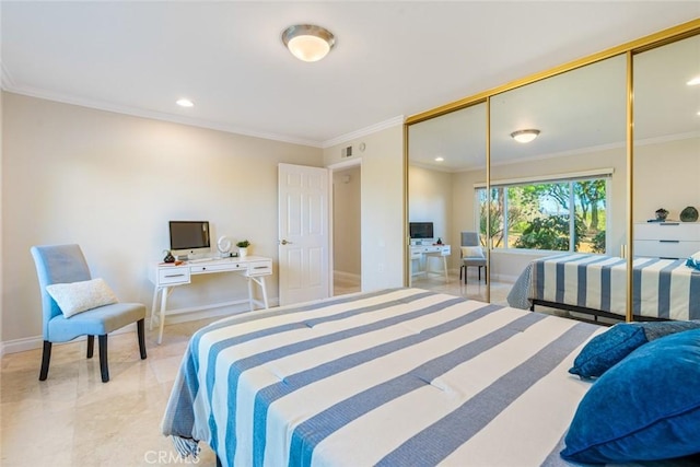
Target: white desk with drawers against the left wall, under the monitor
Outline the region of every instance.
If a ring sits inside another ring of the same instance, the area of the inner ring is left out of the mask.
[[[158,316],[160,330],[158,343],[163,339],[163,326],[167,310],[167,295],[174,287],[187,285],[191,283],[191,276],[211,275],[219,272],[237,272],[248,281],[248,301],[250,311],[257,302],[253,299],[253,282],[260,287],[262,292],[262,305],[268,307],[267,289],[265,277],[272,273],[272,259],[262,256],[247,256],[245,258],[221,258],[211,260],[185,261],[178,266],[159,264],[152,268],[151,282],[155,285],[153,290],[153,304],[151,306],[150,329],[153,329],[153,320]],[[161,305],[158,306],[158,295],[161,294]]]

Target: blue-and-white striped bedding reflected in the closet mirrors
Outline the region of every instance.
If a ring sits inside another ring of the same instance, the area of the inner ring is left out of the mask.
[[[700,271],[684,259],[635,258],[632,313],[664,319],[700,319]],[[562,254],[532,261],[508,302],[528,308],[532,300],[625,316],[627,260],[614,256]]]

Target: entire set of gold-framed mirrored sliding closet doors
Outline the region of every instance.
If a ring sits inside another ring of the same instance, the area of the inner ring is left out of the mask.
[[[700,257],[699,33],[681,24],[409,117],[407,220],[431,230],[410,241],[408,282],[583,319],[700,319],[695,279],[667,273]]]

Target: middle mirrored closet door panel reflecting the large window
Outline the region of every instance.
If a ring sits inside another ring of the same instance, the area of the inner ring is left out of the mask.
[[[509,304],[534,259],[619,255],[627,234],[626,63],[616,56],[490,98],[492,302]],[[623,291],[621,266],[616,287]],[[565,275],[578,270],[560,266],[557,273],[575,282]],[[592,290],[556,296],[548,289],[539,299],[562,305],[561,314],[599,305]],[[610,306],[625,310],[625,294],[618,300]]]

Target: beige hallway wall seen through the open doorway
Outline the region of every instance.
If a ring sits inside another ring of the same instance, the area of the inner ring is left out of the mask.
[[[361,171],[351,167],[332,174],[332,244],[334,270],[336,273],[357,276],[361,273]]]

